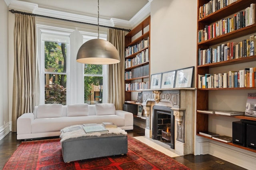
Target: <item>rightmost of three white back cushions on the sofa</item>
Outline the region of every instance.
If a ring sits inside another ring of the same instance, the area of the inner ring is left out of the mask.
[[[115,115],[116,107],[114,104],[101,103],[95,105],[96,115]]]

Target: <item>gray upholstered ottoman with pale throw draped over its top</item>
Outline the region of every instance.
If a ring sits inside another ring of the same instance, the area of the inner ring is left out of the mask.
[[[86,134],[82,125],[61,130],[61,148],[64,162],[127,154],[127,133],[121,128],[108,128],[108,133]]]

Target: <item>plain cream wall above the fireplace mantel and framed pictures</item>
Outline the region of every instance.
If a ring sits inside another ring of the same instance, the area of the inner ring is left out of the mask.
[[[150,74],[196,68],[197,0],[153,0],[150,8]]]

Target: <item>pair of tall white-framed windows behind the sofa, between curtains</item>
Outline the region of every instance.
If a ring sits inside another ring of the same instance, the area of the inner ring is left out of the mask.
[[[38,24],[37,35],[40,104],[106,102],[107,66],[76,62],[79,47],[97,38],[96,31]],[[100,38],[106,39],[106,33]]]

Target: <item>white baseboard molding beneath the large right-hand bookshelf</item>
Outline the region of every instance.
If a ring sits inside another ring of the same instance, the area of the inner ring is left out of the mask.
[[[256,152],[240,149],[206,138],[200,139],[198,136],[195,146],[195,150],[197,150],[195,154],[210,154],[248,170],[255,170]]]

